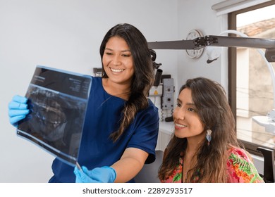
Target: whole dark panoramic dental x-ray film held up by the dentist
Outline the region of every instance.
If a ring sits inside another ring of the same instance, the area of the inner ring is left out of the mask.
[[[85,120],[92,77],[37,66],[27,89],[30,113],[17,133],[75,165]]]

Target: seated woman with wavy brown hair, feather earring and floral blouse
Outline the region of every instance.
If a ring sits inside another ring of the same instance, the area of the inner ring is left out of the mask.
[[[249,153],[240,148],[221,84],[204,77],[187,80],[173,122],[159,170],[161,182],[263,182]]]

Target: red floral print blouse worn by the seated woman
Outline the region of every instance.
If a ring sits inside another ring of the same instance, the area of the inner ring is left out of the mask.
[[[181,183],[183,165],[183,158],[180,158],[173,174],[171,174],[168,179],[161,180],[161,182]],[[250,160],[250,157],[248,157],[247,153],[242,148],[229,148],[227,171],[228,183],[264,183],[264,180],[259,176],[255,165],[252,163],[252,160]],[[199,175],[200,172],[197,172],[197,176]],[[196,182],[196,180],[194,180],[194,182]]]

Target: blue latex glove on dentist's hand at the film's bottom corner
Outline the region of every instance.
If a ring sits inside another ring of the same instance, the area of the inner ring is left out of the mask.
[[[113,167],[96,167],[88,170],[82,166],[82,171],[75,167],[75,183],[114,183],[116,179],[116,170]]]

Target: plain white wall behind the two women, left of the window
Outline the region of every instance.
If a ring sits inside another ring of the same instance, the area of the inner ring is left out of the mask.
[[[196,2],[197,1],[197,2]],[[25,95],[36,65],[92,74],[101,67],[99,45],[117,23],[138,27],[148,42],[185,39],[189,30],[219,34],[224,18],[200,0],[0,0],[0,182],[47,182],[52,155],[16,136],[8,102]],[[196,6],[195,6],[196,5]],[[157,50],[163,74],[178,84],[197,75],[227,83],[222,59],[207,65],[205,54],[190,60],[185,51]]]

